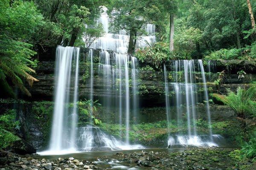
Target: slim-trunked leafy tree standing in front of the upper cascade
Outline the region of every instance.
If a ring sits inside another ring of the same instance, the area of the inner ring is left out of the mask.
[[[164,18],[163,3],[158,0],[113,0],[109,8],[113,31],[125,30],[130,35],[128,54],[133,54],[137,36],[146,34],[148,23],[156,23]]]

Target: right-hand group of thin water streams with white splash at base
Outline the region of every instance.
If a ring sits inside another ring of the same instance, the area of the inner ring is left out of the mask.
[[[196,108],[195,104],[198,101],[196,91],[198,86],[195,84],[196,79],[199,79],[195,75],[195,62],[198,62],[198,71],[201,71],[202,83],[204,85],[204,100],[208,101],[208,92],[206,86],[206,79],[204,73],[204,67],[202,60],[176,60],[173,61],[171,69],[172,82],[167,82],[167,71],[166,66],[164,65],[164,74],[166,82],[166,110],[169,109],[169,84],[172,85],[172,88],[175,91],[175,101],[177,106],[177,126],[181,127],[181,117],[182,112],[180,111],[180,105],[185,104],[186,106],[186,122],[187,122],[187,135],[182,136],[180,134],[169,136],[168,147],[172,147],[174,144],[181,145],[196,145],[196,146],[215,146],[212,130],[211,130],[211,119],[209,111],[209,103],[206,102],[207,108],[207,118],[209,123],[209,135],[198,136],[196,130]],[[202,102],[202,101],[200,101]],[[168,112],[167,112],[168,113]],[[169,122],[169,117],[167,115],[167,122]]]

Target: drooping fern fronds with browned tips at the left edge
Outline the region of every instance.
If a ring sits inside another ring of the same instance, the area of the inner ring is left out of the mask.
[[[24,94],[31,96],[22,79],[25,79],[30,86],[38,79],[32,77],[29,73],[35,73],[29,65],[35,66],[36,62],[31,60],[31,55],[35,52],[29,48],[32,45],[9,39],[7,36],[0,36],[0,80],[2,85],[14,94],[7,78],[13,85],[17,86]]]

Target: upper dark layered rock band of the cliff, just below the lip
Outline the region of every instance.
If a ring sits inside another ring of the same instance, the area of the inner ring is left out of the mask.
[[[113,80],[112,87],[108,88],[106,92],[104,86],[105,77],[102,75],[99,67],[99,56],[101,51],[99,49],[93,50],[93,99],[99,99],[99,103],[104,103],[103,99],[108,96],[110,100],[118,97],[118,88],[115,85],[115,80]],[[113,62],[113,57],[115,53],[113,51],[108,51],[110,55],[110,62]],[[81,49],[80,65],[79,65],[79,99],[89,99],[90,96],[90,63],[87,62],[88,51],[86,48]],[[171,61],[169,65],[172,65]],[[238,86],[247,88],[256,79],[256,65],[250,61],[211,61],[210,63],[204,63],[204,70],[206,72],[205,77],[207,82],[207,90],[209,92],[220,91],[225,93],[226,88],[231,90],[236,90]],[[168,64],[167,64],[168,65]],[[163,69],[160,71],[146,70],[145,64],[138,62],[136,70],[136,81],[137,81],[137,98],[139,99],[140,106],[142,107],[155,107],[165,105],[165,82]],[[207,73],[209,71],[211,73]],[[114,67],[113,67],[114,68]],[[175,77],[170,75],[173,71],[170,70],[171,66],[167,67],[167,75],[169,84],[175,82]],[[53,60],[40,62],[36,70],[37,75],[35,76],[39,79],[39,82],[35,82],[29,91],[32,94],[30,101],[38,100],[49,100],[54,99],[54,70],[55,62]],[[247,74],[244,78],[238,79],[238,71],[244,70]],[[215,85],[214,81],[218,79],[218,72],[225,71],[224,77],[222,77],[222,82],[219,85]],[[129,69],[129,81],[131,80],[131,69]],[[204,85],[202,84],[201,73],[195,73],[195,91],[198,96],[203,94]],[[116,79],[116,78],[115,78]],[[120,81],[120,80],[119,80]],[[180,82],[184,81],[184,75],[180,74]],[[130,82],[131,83],[131,82]],[[71,91],[73,89],[70,89]],[[130,87],[130,94],[131,94]],[[132,96],[132,94],[130,95]],[[169,97],[170,100],[175,100],[175,89],[173,85],[169,85]],[[203,99],[202,99],[203,100]]]

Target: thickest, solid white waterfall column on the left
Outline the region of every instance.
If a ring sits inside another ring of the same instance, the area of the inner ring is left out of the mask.
[[[74,68],[72,63],[75,62]],[[51,151],[75,150],[76,148],[76,122],[77,122],[77,94],[79,73],[79,48],[57,47],[55,65],[55,102],[52,122],[52,133],[50,139]],[[75,69],[75,79],[71,74]],[[73,90],[71,94],[70,89]],[[73,96],[73,111],[70,112],[66,104],[70,103]],[[67,123],[71,116],[71,127]]]

